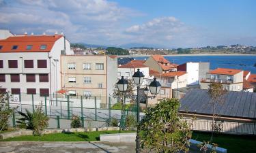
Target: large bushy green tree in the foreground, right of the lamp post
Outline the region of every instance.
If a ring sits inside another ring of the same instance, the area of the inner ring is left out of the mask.
[[[189,124],[177,114],[180,101],[162,99],[149,108],[139,123],[141,148],[153,152],[188,152],[192,132]]]

